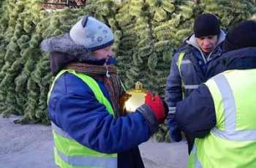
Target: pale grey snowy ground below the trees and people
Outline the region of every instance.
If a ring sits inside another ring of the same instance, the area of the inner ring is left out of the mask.
[[[18,125],[0,115],[0,167],[58,168],[54,164],[53,135],[50,126]],[[155,142],[153,138],[139,146],[146,168],[186,167],[185,142]]]

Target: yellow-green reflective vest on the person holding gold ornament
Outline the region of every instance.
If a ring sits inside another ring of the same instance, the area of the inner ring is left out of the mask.
[[[113,109],[108,102],[108,99],[105,98],[102,91],[99,88],[99,85],[95,80],[87,75],[83,75],[80,73],[76,73],[72,69],[64,69],[56,76],[53,81],[53,85],[50,88],[50,92],[48,93],[48,99],[50,98],[50,93],[53,91],[53,86],[56,83],[56,80],[64,74],[64,72],[69,72],[81,80],[83,80],[91,90],[94,92],[97,100],[105,104],[106,109],[110,114],[113,115]],[[66,131],[56,126],[53,122],[53,138],[55,142],[54,148],[54,156],[56,164],[58,164],[62,168],[115,168],[117,167],[117,154],[107,154],[107,153],[99,153],[95,150],[91,150],[90,148],[86,148],[83,145],[80,145],[78,142],[69,137]]]

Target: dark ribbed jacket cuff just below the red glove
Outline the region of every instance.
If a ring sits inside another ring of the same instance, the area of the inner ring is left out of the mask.
[[[157,123],[157,117],[154,115],[154,112],[147,104],[143,104],[138,107],[138,112],[140,112],[148,123],[151,134],[154,134],[158,131],[159,126]]]

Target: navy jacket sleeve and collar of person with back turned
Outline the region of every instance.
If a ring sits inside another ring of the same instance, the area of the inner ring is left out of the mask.
[[[256,69],[256,47],[233,50],[222,55],[220,60],[226,70]],[[220,73],[220,72],[216,72]],[[177,103],[178,127],[193,137],[205,137],[216,126],[214,100],[208,87],[201,84],[186,99]]]

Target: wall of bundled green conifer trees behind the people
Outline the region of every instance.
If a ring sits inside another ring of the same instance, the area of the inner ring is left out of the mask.
[[[0,113],[23,115],[19,123],[49,124],[47,93],[48,53],[42,39],[61,36],[89,14],[112,28],[118,74],[127,88],[140,81],[146,90],[164,96],[170,60],[192,34],[195,18],[210,12],[229,30],[242,20],[256,20],[255,0],[88,0],[80,9],[39,10],[39,0],[0,1]],[[167,124],[154,135],[171,142]]]

